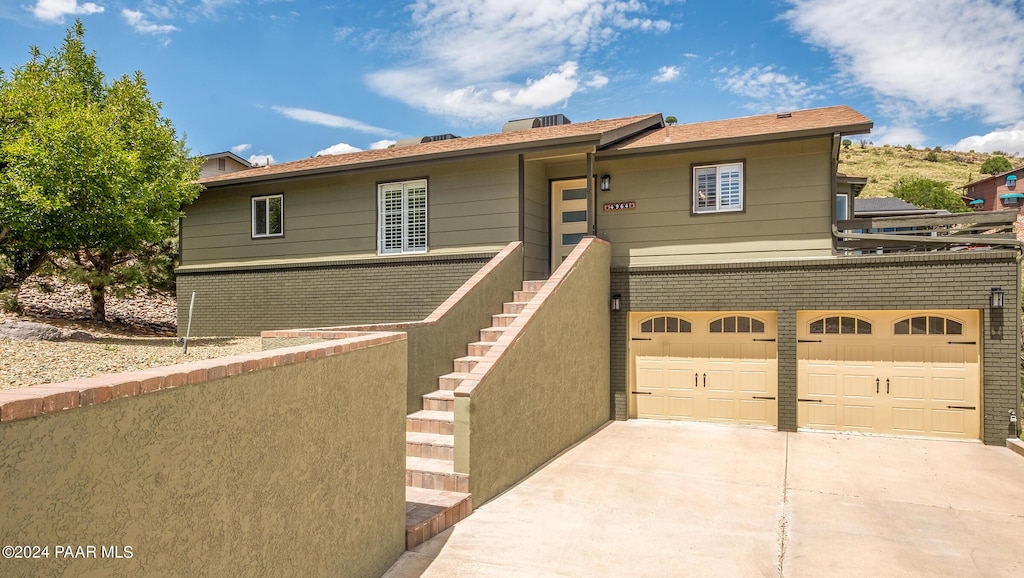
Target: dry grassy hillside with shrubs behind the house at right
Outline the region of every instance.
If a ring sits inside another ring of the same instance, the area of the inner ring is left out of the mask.
[[[937,161],[926,160],[930,152]],[[889,188],[903,176],[923,176],[949,182],[953,189],[982,178],[981,164],[986,153],[959,153],[902,147],[876,147],[854,142],[840,152],[839,172],[851,176],[866,176],[867,187],[861,197],[889,197]],[[1024,165],[1024,158],[1007,156],[1013,166]]]

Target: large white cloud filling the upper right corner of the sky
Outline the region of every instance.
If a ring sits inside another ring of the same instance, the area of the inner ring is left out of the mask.
[[[782,18],[827,49],[847,82],[916,116],[1024,115],[1024,14],[1012,0],[788,0]]]

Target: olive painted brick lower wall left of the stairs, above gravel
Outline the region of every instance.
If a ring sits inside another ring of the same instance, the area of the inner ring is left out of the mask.
[[[258,335],[272,329],[421,320],[492,256],[179,272],[178,333],[187,330],[194,291],[191,335]]]

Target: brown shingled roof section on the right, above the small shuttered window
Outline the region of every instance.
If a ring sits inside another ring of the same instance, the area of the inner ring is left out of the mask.
[[[626,139],[608,150],[635,152],[640,149],[685,148],[831,132],[859,134],[867,132],[871,126],[870,119],[850,107],[826,107],[784,114],[667,126],[662,130],[649,131]]]

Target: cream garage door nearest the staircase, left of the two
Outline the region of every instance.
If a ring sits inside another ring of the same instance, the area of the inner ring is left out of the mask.
[[[632,417],[778,424],[774,312],[631,314]]]

